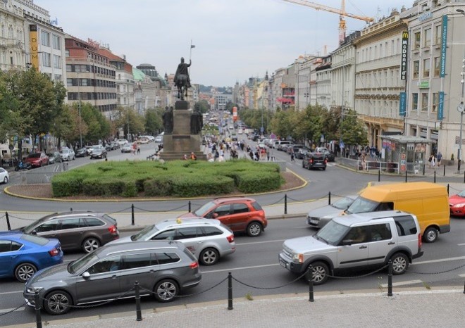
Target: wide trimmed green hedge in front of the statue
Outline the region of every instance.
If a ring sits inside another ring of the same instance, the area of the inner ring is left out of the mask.
[[[178,196],[244,194],[279,189],[279,166],[252,160],[107,161],[62,172],[51,181],[55,197]]]

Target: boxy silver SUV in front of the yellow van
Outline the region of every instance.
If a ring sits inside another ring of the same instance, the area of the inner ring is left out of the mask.
[[[313,236],[288,239],[279,262],[299,275],[312,265],[314,284],[323,284],[335,270],[382,266],[389,260],[392,273],[401,275],[422,255],[416,216],[389,210],[335,217]]]

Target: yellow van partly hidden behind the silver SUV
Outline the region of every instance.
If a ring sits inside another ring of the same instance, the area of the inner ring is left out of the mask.
[[[450,232],[447,188],[431,182],[380,184],[367,187],[346,214],[403,210],[419,220],[424,241],[433,243],[439,234]]]

